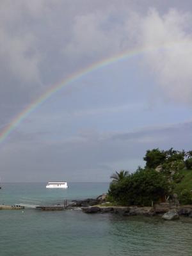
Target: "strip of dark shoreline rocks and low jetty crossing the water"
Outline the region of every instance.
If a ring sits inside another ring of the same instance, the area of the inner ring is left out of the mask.
[[[168,214],[169,212],[174,212],[179,216],[186,216],[192,218],[192,205],[170,205],[168,203],[154,204],[152,207],[140,207],[136,205],[130,206],[120,206],[111,205],[104,200],[98,198],[87,198],[85,200],[73,200],[68,205],[40,205],[38,207],[33,207],[34,210],[41,211],[63,211],[63,210],[76,210],[81,209],[86,214],[119,214],[122,216],[163,216],[163,214]],[[23,210],[28,209],[23,205],[0,205],[0,210]],[[32,207],[31,207],[32,209]]]

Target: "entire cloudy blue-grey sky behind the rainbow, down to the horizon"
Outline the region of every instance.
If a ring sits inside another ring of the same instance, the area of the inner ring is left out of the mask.
[[[1,0],[3,182],[108,182],[148,149],[191,150],[192,2]],[[129,52],[136,54],[129,54]]]

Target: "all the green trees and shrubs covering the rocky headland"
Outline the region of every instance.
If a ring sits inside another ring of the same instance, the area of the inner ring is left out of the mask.
[[[147,150],[145,168],[111,175],[108,199],[121,205],[151,205],[165,198],[192,204],[192,151]]]

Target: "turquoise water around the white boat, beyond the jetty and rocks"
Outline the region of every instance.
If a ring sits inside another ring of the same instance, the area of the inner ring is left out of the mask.
[[[63,200],[95,198],[108,191],[109,184],[92,182],[68,183],[68,189],[46,189],[46,183],[1,184],[0,204],[62,204]]]

